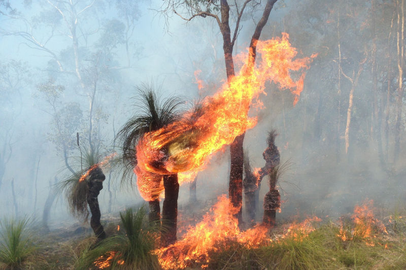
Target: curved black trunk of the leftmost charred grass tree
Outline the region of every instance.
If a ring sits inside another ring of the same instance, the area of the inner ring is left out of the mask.
[[[87,195],[87,204],[89,205],[90,213],[92,217],[90,218],[90,227],[96,235],[97,241],[106,239],[106,233],[103,226],[100,223],[100,207],[98,205],[97,196],[100,190],[103,189],[103,181],[106,176],[103,174],[99,167],[94,168],[89,176],[89,193]]]

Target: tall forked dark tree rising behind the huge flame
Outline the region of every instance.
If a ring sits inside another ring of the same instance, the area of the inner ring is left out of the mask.
[[[199,5],[201,3],[201,6]],[[223,37],[223,51],[224,51],[224,61],[226,67],[227,81],[230,82],[231,79],[235,76],[234,72],[234,63],[232,58],[232,51],[234,47],[235,40],[238,36],[238,33],[241,29],[240,20],[246,10],[248,4],[252,0],[245,0],[242,6],[232,5],[231,7],[235,10],[232,13],[236,14],[236,23],[231,37],[231,30],[229,24],[230,17],[230,6],[228,5],[227,0],[220,0],[220,6],[215,5],[212,1],[176,1],[176,0],[167,0],[164,4],[164,9],[161,11],[163,13],[175,12],[178,16],[186,21],[190,21],[195,17],[212,17],[217,21],[221,35]],[[251,73],[255,58],[256,58],[256,45],[257,41],[261,35],[262,28],[265,26],[269,13],[272,10],[274,4],[277,0],[267,0],[265,8],[261,19],[258,21],[254,33],[251,38],[250,48],[249,48],[249,64],[247,67],[246,73]],[[236,4],[234,2],[233,4]],[[253,3],[255,4],[255,3]],[[177,12],[176,9],[186,9],[188,13],[188,18],[185,18],[181,13]],[[219,11],[216,13],[216,11]],[[247,103],[241,104],[242,110],[245,110],[248,115],[250,100]],[[230,145],[230,179],[228,187],[228,195],[231,204],[233,207],[240,208],[240,211],[235,214],[238,218],[239,223],[242,223],[242,205],[243,205],[243,163],[244,163],[244,143],[245,133],[234,139],[234,142]]]

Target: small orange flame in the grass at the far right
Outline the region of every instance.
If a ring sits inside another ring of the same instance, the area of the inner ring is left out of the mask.
[[[369,241],[371,237],[376,237],[376,235],[373,236],[374,231],[388,233],[385,225],[374,217],[374,200],[366,200],[361,206],[356,205],[351,219],[354,228],[349,231],[344,228],[342,222],[340,233],[337,234],[343,241],[354,240],[355,237],[359,237],[365,241],[366,245],[374,246],[375,244]]]

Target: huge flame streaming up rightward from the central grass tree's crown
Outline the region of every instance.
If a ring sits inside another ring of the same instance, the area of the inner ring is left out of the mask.
[[[145,200],[157,198],[163,190],[158,176],[204,170],[213,153],[254,127],[257,119],[249,118],[248,110],[253,99],[259,104],[258,97],[264,93],[266,82],[290,89],[295,96],[294,104],[297,103],[305,73],[294,81],[291,71],[308,69],[316,55],[293,59],[297,51],[288,38],[287,33],[282,33],[282,38],[258,41],[259,64],[251,69],[245,57],[240,74],[224,83],[216,94],[205,98],[201,110],[188,112],[182,120],[143,136],[137,145],[138,166],[134,172]]]

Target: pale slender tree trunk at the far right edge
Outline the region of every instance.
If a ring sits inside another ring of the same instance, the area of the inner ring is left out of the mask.
[[[397,1],[399,7],[399,1]],[[395,148],[393,152],[393,162],[396,163],[400,152],[400,127],[402,121],[402,99],[403,99],[403,31],[404,31],[404,13],[403,13],[404,0],[401,0],[400,11],[398,8],[397,14],[397,68],[399,71],[398,89],[396,98],[396,119],[395,119]],[[400,26],[401,18],[401,26]],[[400,31],[400,33],[399,33]]]

